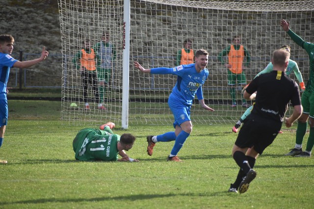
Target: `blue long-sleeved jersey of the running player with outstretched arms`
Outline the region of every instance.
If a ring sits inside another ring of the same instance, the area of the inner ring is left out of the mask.
[[[178,80],[172,89],[171,96],[179,103],[192,105],[195,94],[197,94],[199,100],[203,99],[202,85],[209,75],[207,69],[197,72],[195,64],[189,64],[174,68],[153,68],[151,73],[178,75]]]

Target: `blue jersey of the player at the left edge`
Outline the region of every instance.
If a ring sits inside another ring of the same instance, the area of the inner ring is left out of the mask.
[[[6,99],[6,84],[8,83],[10,68],[17,62],[9,54],[0,52],[0,99]]]

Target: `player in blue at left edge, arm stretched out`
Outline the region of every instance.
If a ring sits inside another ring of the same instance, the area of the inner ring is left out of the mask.
[[[8,100],[6,97],[6,84],[8,83],[10,68],[29,68],[41,61],[44,61],[48,56],[48,51],[43,50],[40,58],[20,62],[13,57],[14,38],[11,35],[0,35],[0,147],[2,145],[5,128],[8,119]],[[0,164],[5,164],[7,161],[0,160]]]

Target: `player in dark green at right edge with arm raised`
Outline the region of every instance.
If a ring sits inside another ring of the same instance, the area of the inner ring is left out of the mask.
[[[303,113],[298,119],[295,146],[286,156],[311,157],[311,151],[314,146],[314,43],[305,42],[301,37],[293,33],[289,28],[289,22],[286,20],[281,20],[280,25],[297,45],[305,49],[309,54],[310,61],[310,77],[306,89],[302,93],[301,104],[303,106]],[[308,119],[310,120],[310,134],[306,150],[303,152],[302,141],[308,127]]]

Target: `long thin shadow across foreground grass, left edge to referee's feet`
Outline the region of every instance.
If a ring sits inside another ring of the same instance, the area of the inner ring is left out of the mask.
[[[37,200],[23,200],[15,202],[0,202],[0,205],[14,205],[14,204],[42,204],[42,203],[71,203],[71,202],[101,202],[101,201],[125,201],[125,200],[151,200],[153,198],[166,198],[174,196],[190,196],[190,197],[208,197],[208,196],[225,196],[228,194],[226,191],[208,193],[208,194],[195,194],[195,193],[169,193],[169,194],[136,194],[136,195],[126,195],[126,196],[116,196],[116,197],[94,197],[94,198],[77,198],[77,199],[63,199],[63,198],[43,198]]]

